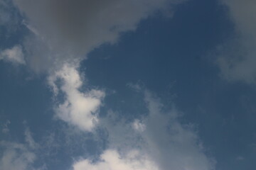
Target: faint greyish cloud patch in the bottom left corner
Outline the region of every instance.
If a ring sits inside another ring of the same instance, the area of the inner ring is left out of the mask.
[[[34,144],[31,132],[27,129],[25,132],[26,143],[0,141],[0,148],[3,151],[0,154],[0,169],[2,170],[27,170],[36,160],[36,154],[33,152]],[[31,145],[33,141],[33,145]]]

